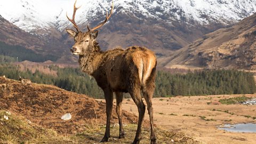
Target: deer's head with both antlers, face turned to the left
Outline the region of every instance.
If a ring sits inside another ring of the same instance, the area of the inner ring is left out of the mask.
[[[81,7],[81,6],[79,6]],[[73,26],[76,28],[75,30],[72,29],[66,29],[67,33],[74,38],[75,44],[71,47],[70,51],[75,54],[75,55],[85,55],[87,53],[90,53],[92,51],[98,51],[99,49],[95,49],[94,45],[98,44],[95,39],[98,36],[98,28],[103,26],[108,19],[110,18],[111,14],[113,13],[114,9],[114,3],[112,1],[112,7],[110,14],[108,15],[108,12],[106,14],[106,19],[101,22],[98,26],[90,29],[89,26],[87,25],[88,31],[82,32],[79,30],[78,26],[76,25],[75,22],[75,15],[76,15],[76,10],[79,9],[79,7],[76,7],[76,1],[74,4],[74,12],[73,12],[73,18],[70,19],[67,15],[68,20],[73,23]],[[97,47],[96,47],[97,48]]]

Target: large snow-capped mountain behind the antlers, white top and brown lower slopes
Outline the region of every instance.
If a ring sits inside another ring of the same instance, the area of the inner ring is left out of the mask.
[[[46,42],[45,50],[61,53],[62,61],[74,42],[65,29],[71,28],[66,11],[71,17],[74,1],[10,0],[0,4],[0,14],[19,28],[39,36]],[[111,0],[78,1],[78,26],[86,30],[98,25],[110,9]],[[9,7],[11,6],[11,9]],[[114,1],[110,21],[102,27],[99,42],[103,50],[116,46],[141,45],[158,55],[178,50],[204,34],[233,24],[256,11],[256,1],[231,0],[140,0]],[[15,9],[15,10],[14,10]]]

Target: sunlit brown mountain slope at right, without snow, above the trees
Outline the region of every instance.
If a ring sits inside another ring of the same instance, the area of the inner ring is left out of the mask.
[[[237,25],[207,34],[169,57],[163,67],[256,69],[256,13]]]

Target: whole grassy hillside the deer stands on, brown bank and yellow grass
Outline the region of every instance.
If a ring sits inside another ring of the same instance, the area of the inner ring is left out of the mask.
[[[105,103],[56,86],[31,84],[0,77],[0,143],[99,143],[105,132]],[[70,113],[72,118],[62,121]],[[8,118],[6,118],[8,117]],[[131,143],[137,117],[123,110],[125,139],[118,139],[118,120],[113,108],[111,139],[107,143]],[[141,143],[148,143],[145,121]],[[159,143],[199,143],[185,134],[156,128]]]

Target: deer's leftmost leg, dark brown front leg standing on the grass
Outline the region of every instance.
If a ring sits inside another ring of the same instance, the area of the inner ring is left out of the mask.
[[[106,99],[107,123],[106,123],[105,135],[100,142],[108,141],[108,138],[110,138],[110,118],[111,118],[112,107],[113,107],[113,92],[110,89],[105,89],[103,91]]]

